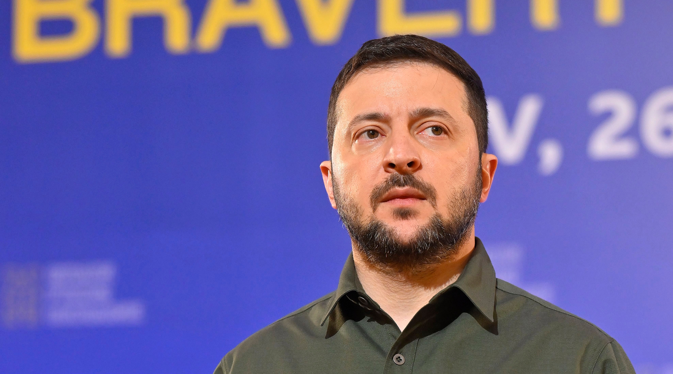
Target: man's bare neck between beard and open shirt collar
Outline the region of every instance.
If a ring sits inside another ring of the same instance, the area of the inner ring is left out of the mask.
[[[434,295],[458,279],[474,250],[474,228],[468,235],[468,239],[460,244],[454,256],[419,273],[383,271],[353,248],[357,278],[367,295],[403,331],[413,316]]]

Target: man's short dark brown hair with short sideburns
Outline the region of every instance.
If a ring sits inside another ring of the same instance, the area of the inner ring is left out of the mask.
[[[429,63],[441,67],[455,75],[465,85],[467,95],[466,110],[474,122],[479,152],[489,145],[489,120],[486,108],[486,94],[479,75],[448,46],[418,35],[395,35],[369,40],[362,44],[355,56],[343,66],[332,85],[330,104],[327,108],[327,142],[332,158],[334,126],[336,126],[336,100],[346,84],[359,71],[369,67],[385,67],[400,62],[411,61]]]

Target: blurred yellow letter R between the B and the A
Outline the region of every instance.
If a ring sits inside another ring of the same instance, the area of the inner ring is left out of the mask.
[[[105,50],[112,57],[131,52],[131,21],[134,17],[164,18],[164,45],[171,53],[189,50],[192,16],[182,0],[107,0]]]

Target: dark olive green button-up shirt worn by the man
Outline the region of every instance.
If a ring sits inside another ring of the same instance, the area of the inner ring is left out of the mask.
[[[363,303],[359,298],[363,298]],[[396,365],[395,354],[404,356]],[[503,280],[481,240],[456,282],[403,332],[363,291],[349,256],[339,287],[227,353],[227,373],[633,373],[596,326]]]

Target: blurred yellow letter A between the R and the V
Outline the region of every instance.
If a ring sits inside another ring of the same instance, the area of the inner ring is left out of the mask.
[[[197,33],[197,47],[203,52],[219,48],[227,28],[257,26],[267,46],[282,48],[291,40],[285,16],[276,0],[210,0]]]

